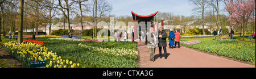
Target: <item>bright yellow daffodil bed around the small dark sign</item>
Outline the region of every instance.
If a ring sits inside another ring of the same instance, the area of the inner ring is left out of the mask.
[[[47,68],[76,68],[80,66],[79,63],[73,63],[68,59],[61,59],[61,56],[57,56],[56,52],[48,51],[48,48],[42,47],[39,44],[20,44],[15,41],[9,41],[4,43],[4,48],[26,67],[30,66],[31,61],[43,60],[46,60]]]

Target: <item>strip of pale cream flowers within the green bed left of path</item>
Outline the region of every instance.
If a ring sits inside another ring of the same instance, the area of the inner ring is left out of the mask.
[[[113,56],[123,56],[126,59],[137,59],[138,51],[133,49],[118,49],[118,48],[102,48],[102,47],[92,47],[88,45],[79,44],[80,47],[84,47],[92,52],[97,52],[98,54],[105,54],[105,55],[113,55]]]

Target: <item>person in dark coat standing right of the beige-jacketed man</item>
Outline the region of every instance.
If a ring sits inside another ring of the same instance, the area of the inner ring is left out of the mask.
[[[164,50],[164,59],[167,59],[167,51],[166,51],[166,31],[163,30],[163,26],[159,27],[158,31],[158,48],[159,48],[159,55],[160,59],[162,59],[162,47]]]

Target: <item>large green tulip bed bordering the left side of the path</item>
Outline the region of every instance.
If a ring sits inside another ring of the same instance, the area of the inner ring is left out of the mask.
[[[49,40],[44,46],[85,68],[136,68],[136,43]]]

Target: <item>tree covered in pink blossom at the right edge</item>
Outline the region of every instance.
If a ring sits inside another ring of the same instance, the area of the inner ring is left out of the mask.
[[[229,21],[232,26],[241,27],[244,40],[247,23],[255,23],[255,0],[232,0],[225,4],[226,11],[229,12]]]

